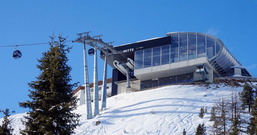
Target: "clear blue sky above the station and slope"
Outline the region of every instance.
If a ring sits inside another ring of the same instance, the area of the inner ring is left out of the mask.
[[[164,37],[165,30],[203,32],[221,39],[257,77],[256,6],[257,1],[2,1],[0,46],[45,43],[52,31],[55,35],[62,32],[68,40],[91,31],[90,35],[103,34],[105,42],[114,41],[114,46]],[[67,45],[73,46],[68,54],[72,83],[83,84],[83,46]],[[27,83],[39,75],[36,59],[48,48],[47,44],[17,47],[22,52],[17,60],[12,58],[14,47],[0,48],[0,109],[28,111],[18,107],[18,102],[29,100]],[[94,58],[87,58],[92,82]],[[100,80],[104,61],[98,60]],[[110,66],[107,76],[112,77]]]

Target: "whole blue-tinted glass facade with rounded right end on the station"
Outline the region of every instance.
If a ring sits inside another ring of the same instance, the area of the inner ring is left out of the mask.
[[[213,58],[220,44],[200,34],[171,34],[171,44],[135,51],[135,69],[207,57]]]

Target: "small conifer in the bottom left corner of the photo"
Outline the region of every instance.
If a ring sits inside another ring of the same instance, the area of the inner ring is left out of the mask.
[[[10,116],[10,112],[9,109],[5,109],[5,111],[2,111],[4,113],[4,120],[3,120],[3,124],[0,127],[0,134],[3,135],[11,135],[13,132],[13,128],[10,126],[10,124],[12,123],[11,120],[8,119],[8,117]]]

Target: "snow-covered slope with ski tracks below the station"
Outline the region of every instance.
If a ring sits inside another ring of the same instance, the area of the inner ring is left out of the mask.
[[[108,110],[90,120],[85,120],[86,106],[79,106],[75,112],[82,114],[81,126],[75,130],[76,134],[182,134],[183,129],[187,134],[194,134],[197,125],[203,122],[208,130],[210,115],[207,113],[199,119],[200,108],[207,106],[210,112],[222,96],[229,97],[231,90],[240,92],[243,89],[232,89],[223,84],[210,86],[207,93],[205,87],[199,85],[173,85],[122,93],[107,98]],[[23,115],[26,114],[10,116],[15,134],[19,133],[19,128],[24,128]],[[96,121],[100,121],[100,125],[95,125]]]

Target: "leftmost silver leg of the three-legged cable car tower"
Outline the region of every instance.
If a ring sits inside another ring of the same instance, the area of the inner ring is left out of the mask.
[[[92,119],[92,107],[90,99],[90,89],[89,89],[89,79],[88,79],[88,69],[87,69],[87,55],[86,55],[86,42],[84,44],[84,74],[85,74],[85,91],[86,91],[86,115],[87,120]]]

